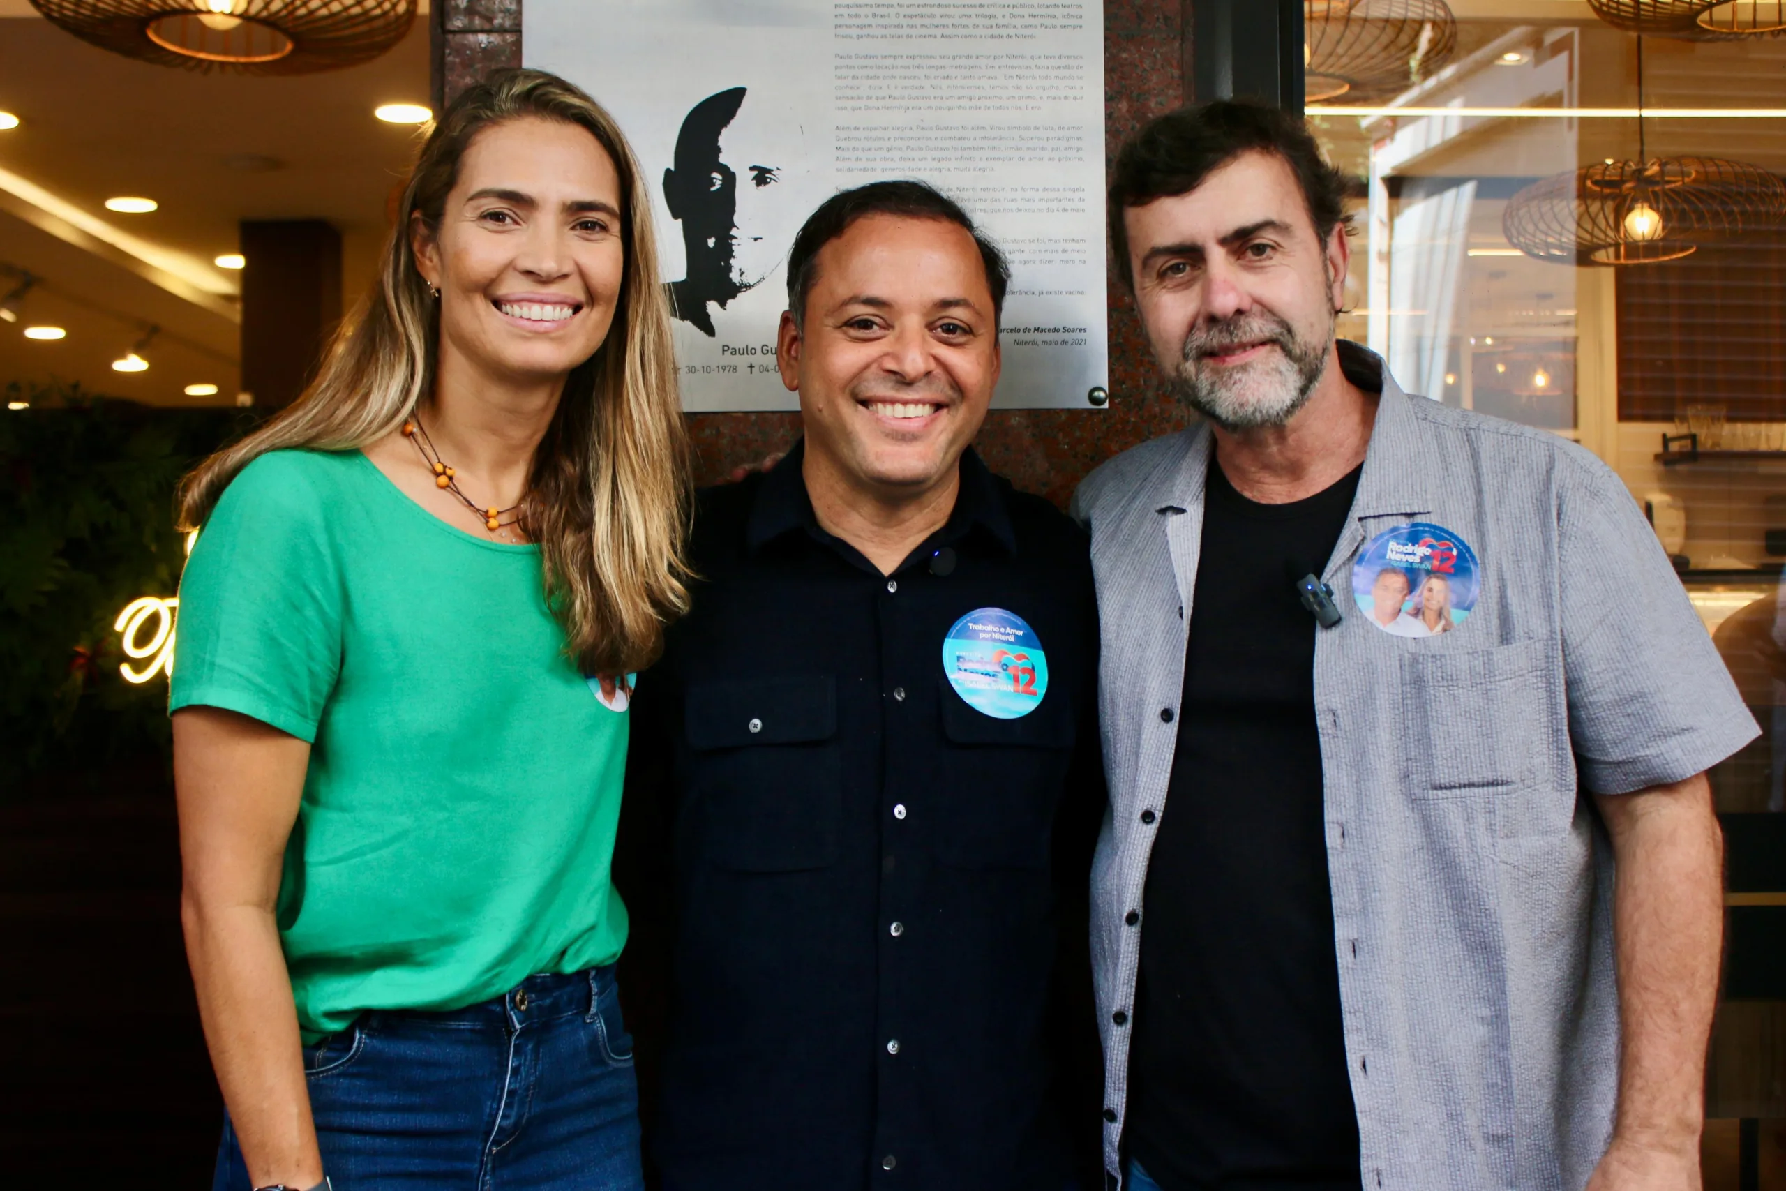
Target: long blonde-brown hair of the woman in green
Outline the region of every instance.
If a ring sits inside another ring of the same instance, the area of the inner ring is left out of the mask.
[[[434,382],[439,312],[416,270],[411,227],[439,225],[472,139],[522,118],[586,129],[620,173],[625,275],[602,348],[572,370],[534,454],[522,516],[541,546],[548,604],[584,673],[623,675],[663,652],[688,609],[688,430],[670,307],[659,284],[650,196],[625,136],[557,75],[502,70],[454,100],[404,187],[377,287],[336,332],[316,380],[289,409],[205,459],[180,484],[196,529],[236,473],[270,450],[357,450],[393,434]]]

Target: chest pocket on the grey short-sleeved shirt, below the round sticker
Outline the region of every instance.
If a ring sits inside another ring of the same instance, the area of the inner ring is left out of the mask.
[[[1538,641],[1404,654],[1400,680],[1411,798],[1511,795],[1532,784],[1550,746]]]

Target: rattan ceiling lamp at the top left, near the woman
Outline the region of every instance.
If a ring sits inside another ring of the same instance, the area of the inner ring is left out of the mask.
[[[248,75],[307,75],[371,61],[416,20],[416,0],[30,0],[125,57]]]

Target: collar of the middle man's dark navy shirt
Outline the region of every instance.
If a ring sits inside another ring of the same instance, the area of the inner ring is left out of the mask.
[[[813,498],[805,491],[805,473],[800,461],[805,457],[805,439],[802,437],[788,452],[788,457],[775,464],[757,498],[750,505],[750,521],[745,529],[745,548],[757,554],[772,541],[805,530],[805,534],[838,554],[852,566],[870,575],[880,575],[880,568],[863,557],[861,550],[829,534],[813,512]],[[984,536],[1000,546],[1007,555],[1016,554],[1016,530],[1011,529],[1011,511],[1006,507],[1006,484],[981,462],[979,454],[970,446],[961,454],[961,487],[956,493],[956,507],[948,514],[943,529],[925,537],[906,561],[893,568],[893,575],[929,559],[936,550],[964,539],[972,530],[984,530]]]

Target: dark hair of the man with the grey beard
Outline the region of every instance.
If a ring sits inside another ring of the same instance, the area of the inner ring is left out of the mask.
[[[1302,116],[1250,100],[1181,107],[1156,116],[1131,136],[1111,170],[1111,252],[1125,286],[1134,289],[1123,212],[1156,198],[1189,195],[1211,173],[1248,152],[1272,154],[1289,166],[1322,241],[1347,220],[1345,173],[1327,164]]]

